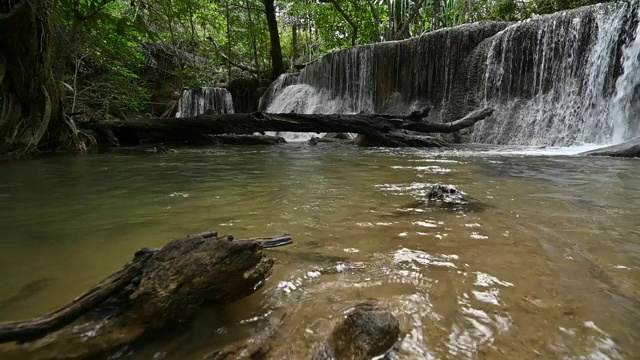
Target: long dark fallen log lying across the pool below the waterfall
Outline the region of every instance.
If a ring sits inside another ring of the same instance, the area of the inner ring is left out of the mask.
[[[157,118],[127,121],[82,122],[78,127],[98,133],[103,140],[120,145],[147,142],[206,142],[206,135],[253,134],[265,131],[356,133],[366,136],[368,144],[379,146],[416,146],[414,137],[400,131],[453,133],[489,117],[493,109],[484,108],[449,123],[424,121],[429,108],[408,116],[387,114],[246,114],[198,115],[186,118]],[[426,141],[426,145],[443,146]]]

